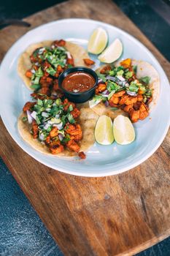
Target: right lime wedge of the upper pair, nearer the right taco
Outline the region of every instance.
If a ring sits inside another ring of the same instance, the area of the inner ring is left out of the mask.
[[[111,45],[109,45],[106,50],[98,56],[99,61],[104,63],[112,63],[120,58],[123,52],[123,45],[120,39],[115,39]]]

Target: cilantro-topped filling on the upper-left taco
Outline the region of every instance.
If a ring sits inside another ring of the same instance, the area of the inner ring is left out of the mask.
[[[31,68],[26,77],[31,79],[31,89],[50,95],[58,89],[58,77],[63,70],[74,67],[74,59],[64,47],[66,41],[56,40],[49,47],[37,48],[30,56]]]

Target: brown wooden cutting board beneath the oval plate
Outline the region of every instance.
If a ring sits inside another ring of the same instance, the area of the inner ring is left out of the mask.
[[[168,74],[168,61],[111,0],[66,1],[25,20],[32,29],[61,18],[102,20],[128,31]],[[0,31],[0,59],[26,31],[17,26]],[[134,255],[170,235],[170,134],[150,159],[126,173],[81,178],[36,162],[2,121],[0,126],[1,157],[64,255]]]

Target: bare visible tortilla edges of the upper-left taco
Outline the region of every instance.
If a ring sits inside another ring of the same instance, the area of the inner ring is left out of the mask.
[[[31,89],[30,87],[31,80],[30,78],[26,77],[26,71],[28,69],[31,69],[32,66],[29,57],[37,48],[49,47],[52,44],[52,42],[53,41],[43,41],[36,43],[34,45],[30,45],[28,46],[26,51],[20,55],[20,58],[18,59],[18,74],[20,75],[20,78],[22,78],[23,82],[26,84],[28,89],[30,89],[31,91],[34,91],[34,89]],[[72,54],[75,67],[87,67],[83,59],[89,59],[89,56],[86,50],[82,48],[82,46],[76,45],[73,42],[66,42],[65,48],[69,51],[69,53]]]

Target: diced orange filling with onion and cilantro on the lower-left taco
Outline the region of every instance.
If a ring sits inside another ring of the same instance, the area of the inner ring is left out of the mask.
[[[36,143],[42,143],[51,154],[61,154],[63,151],[74,151],[84,159],[80,152],[82,128],[77,118],[80,110],[68,99],[37,99],[36,102],[26,102],[23,107],[22,122],[26,132],[31,134]],[[20,125],[20,132],[24,129]],[[32,139],[31,138],[31,139]]]

